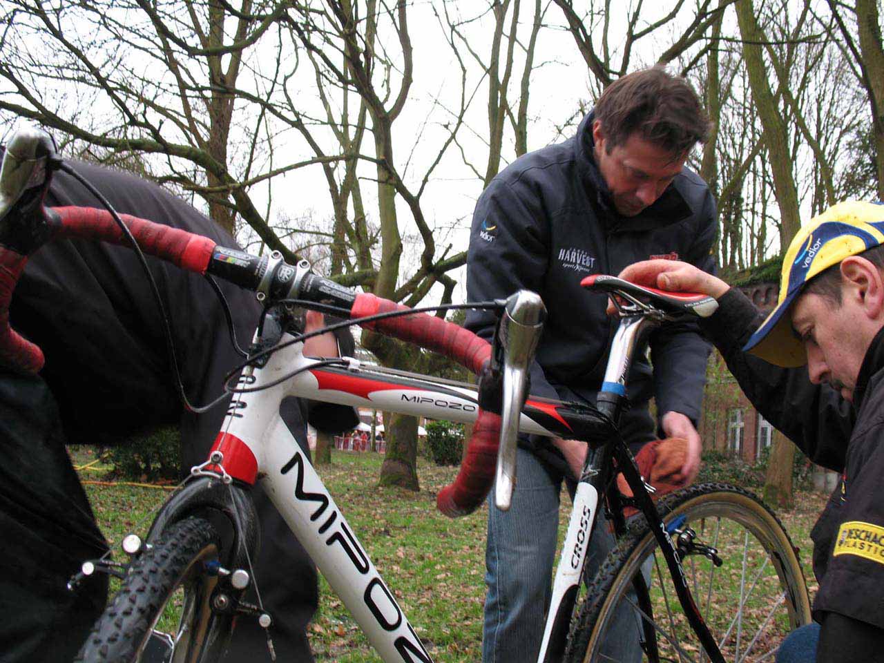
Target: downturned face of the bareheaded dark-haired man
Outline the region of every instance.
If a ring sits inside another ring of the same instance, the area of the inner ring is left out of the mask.
[[[611,190],[614,207],[624,217],[635,217],[656,201],[682,171],[687,154],[674,156],[645,141],[638,133],[629,134],[608,154],[601,123],[592,124],[598,170]]]

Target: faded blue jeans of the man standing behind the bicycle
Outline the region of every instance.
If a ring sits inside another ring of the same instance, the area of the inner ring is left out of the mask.
[[[494,506],[493,492],[489,497],[484,663],[537,661],[552,594],[561,482],[553,481],[540,461],[524,449],[517,451],[516,462],[516,488],[509,510],[499,511]],[[599,514],[587,551],[588,577],[595,575],[613,545],[604,515]],[[627,620],[620,620],[623,621]],[[623,627],[630,628],[629,624]],[[634,626],[631,631],[636,633]],[[610,639],[640,657],[637,636],[631,643],[626,637]],[[617,660],[624,659],[620,656]]]

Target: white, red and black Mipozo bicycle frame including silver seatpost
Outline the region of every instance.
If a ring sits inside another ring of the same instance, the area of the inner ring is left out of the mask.
[[[621,403],[625,399],[632,354],[642,333],[652,324],[649,318],[636,316],[624,318],[621,323],[608,362],[608,391],[603,393],[613,400],[607,402]],[[478,409],[476,387],[385,370],[353,359],[346,360],[346,368],[313,367],[316,360],[302,354],[301,343],[286,346],[292,338],[284,334],[278,344],[280,349],[271,354],[266,364],[250,365],[244,370],[240,384],[261,391],[238,392],[234,396],[213,447],[213,452],[221,453],[221,457],[210,453],[207,462],[247,484],[262,481],[263,489],[382,659],[391,663],[429,662],[430,654],[307,454],[280,419],[278,408],[286,396],[296,396],[471,423]],[[304,370],[284,383],[264,388],[297,369]],[[604,407],[605,400],[601,400]],[[619,405],[609,407],[613,416],[619,416],[619,409]],[[573,403],[529,397],[522,410],[520,430],[550,437],[577,437],[578,431],[585,433],[593,424],[598,427],[598,419],[589,416],[591,412]],[[588,455],[587,470],[577,486],[538,661],[555,660],[564,648],[568,620],[598,516],[599,494],[604,494],[608,479],[602,471],[610,464],[605,453],[611,453],[609,446],[598,447],[596,453]]]

